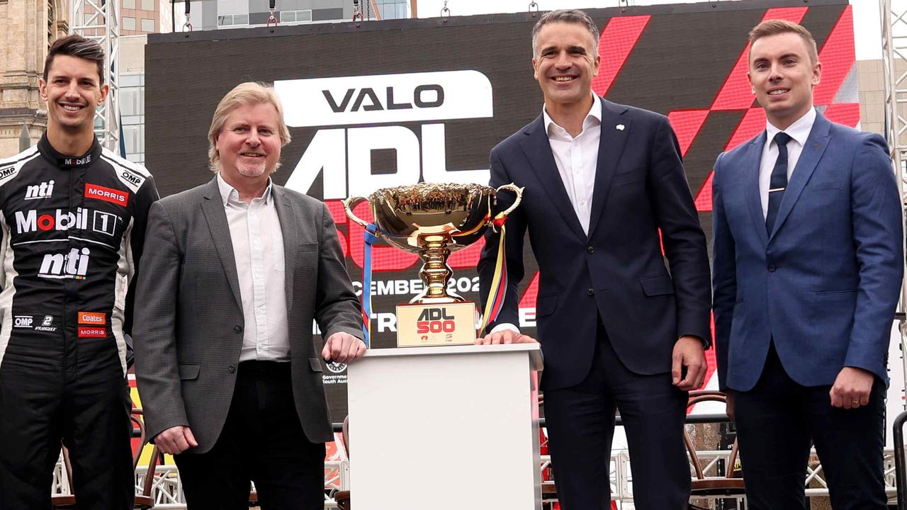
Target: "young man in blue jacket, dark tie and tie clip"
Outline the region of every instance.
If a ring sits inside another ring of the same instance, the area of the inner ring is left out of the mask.
[[[811,441],[834,510],[883,510],[888,344],[901,209],[882,137],[813,107],[813,36],[749,35],[766,131],[718,156],[713,181],[718,380],[752,510],[805,508]]]

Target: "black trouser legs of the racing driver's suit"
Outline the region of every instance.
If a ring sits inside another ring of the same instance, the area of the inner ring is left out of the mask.
[[[7,353],[0,369],[0,509],[50,510],[61,441],[70,450],[80,509],[132,509],[132,402],[116,349],[107,358],[103,367],[54,373]]]

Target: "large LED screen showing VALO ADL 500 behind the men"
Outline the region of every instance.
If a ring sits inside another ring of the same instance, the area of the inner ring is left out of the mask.
[[[824,66],[815,103],[835,122],[859,123],[853,15],[844,0],[589,13],[601,32],[600,73],[592,88],[610,101],[668,115],[707,234],[712,164],[719,152],[765,127],[746,80],[746,34],[754,25],[769,18],[805,25]],[[152,34],[146,49],[147,166],[162,195],[209,181],[206,136],[219,99],[243,81],[274,83],[293,141],[273,178],[327,202],[346,267],[361,291],[363,232],[347,221],[340,200],[418,181],[487,183],[488,152],[541,113],[531,64],[537,16]],[[365,218],[366,209],[363,204],[356,212]],[[449,260],[452,285],[467,299],[478,300],[474,266],[481,248],[475,244]],[[395,305],[421,290],[421,263],[383,245],[375,246],[372,258],[373,347],[392,347]],[[528,252],[527,260],[532,264]],[[537,278],[529,267],[521,284],[520,326],[530,335]],[[711,377],[714,355],[709,361]],[[334,421],[346,414],[345,381],[345,367],[326,368]]]

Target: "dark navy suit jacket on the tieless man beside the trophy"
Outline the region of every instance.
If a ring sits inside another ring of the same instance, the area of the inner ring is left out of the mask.
[[[525,191],[506,223],[507,294],[488,330],[520,323],[517,284],[528,229],[541,272],[543,389],[586,377],[599,316],[620,360],[638,374],[668,372],[679,336],[710,338],[706,238],[668,118],[604,100],[601,109],[589,235],[564,189],[541,114],[491,152],[491,185],[513,182]],[[499,208],[513,201],[510,192],[498,198]],[[478,266],[483,302],[498,247],[497,234],[487,236]]]

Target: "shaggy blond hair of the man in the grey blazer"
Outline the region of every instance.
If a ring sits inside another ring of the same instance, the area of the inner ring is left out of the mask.
[[[220,172],[220,154],[215,141],[220,134],[220,130],[223,129],[224,123],[227,122],[229,114],[242,106],[254,106],[261,103],[268,103],[277,110],[280,146],[283,147],[289,143],[289,130],[287,124],[284,123],[283,108],[280,106],[280,98],[274,92],[274,88],[268,83],[239,83],[220,100],[218,107],[214,109],[214,117],[211,118],[211,127],[208,129],[208,160],[211,172]],[[274,170],[278,168],[280,168],[280,162],[278,162]]]

